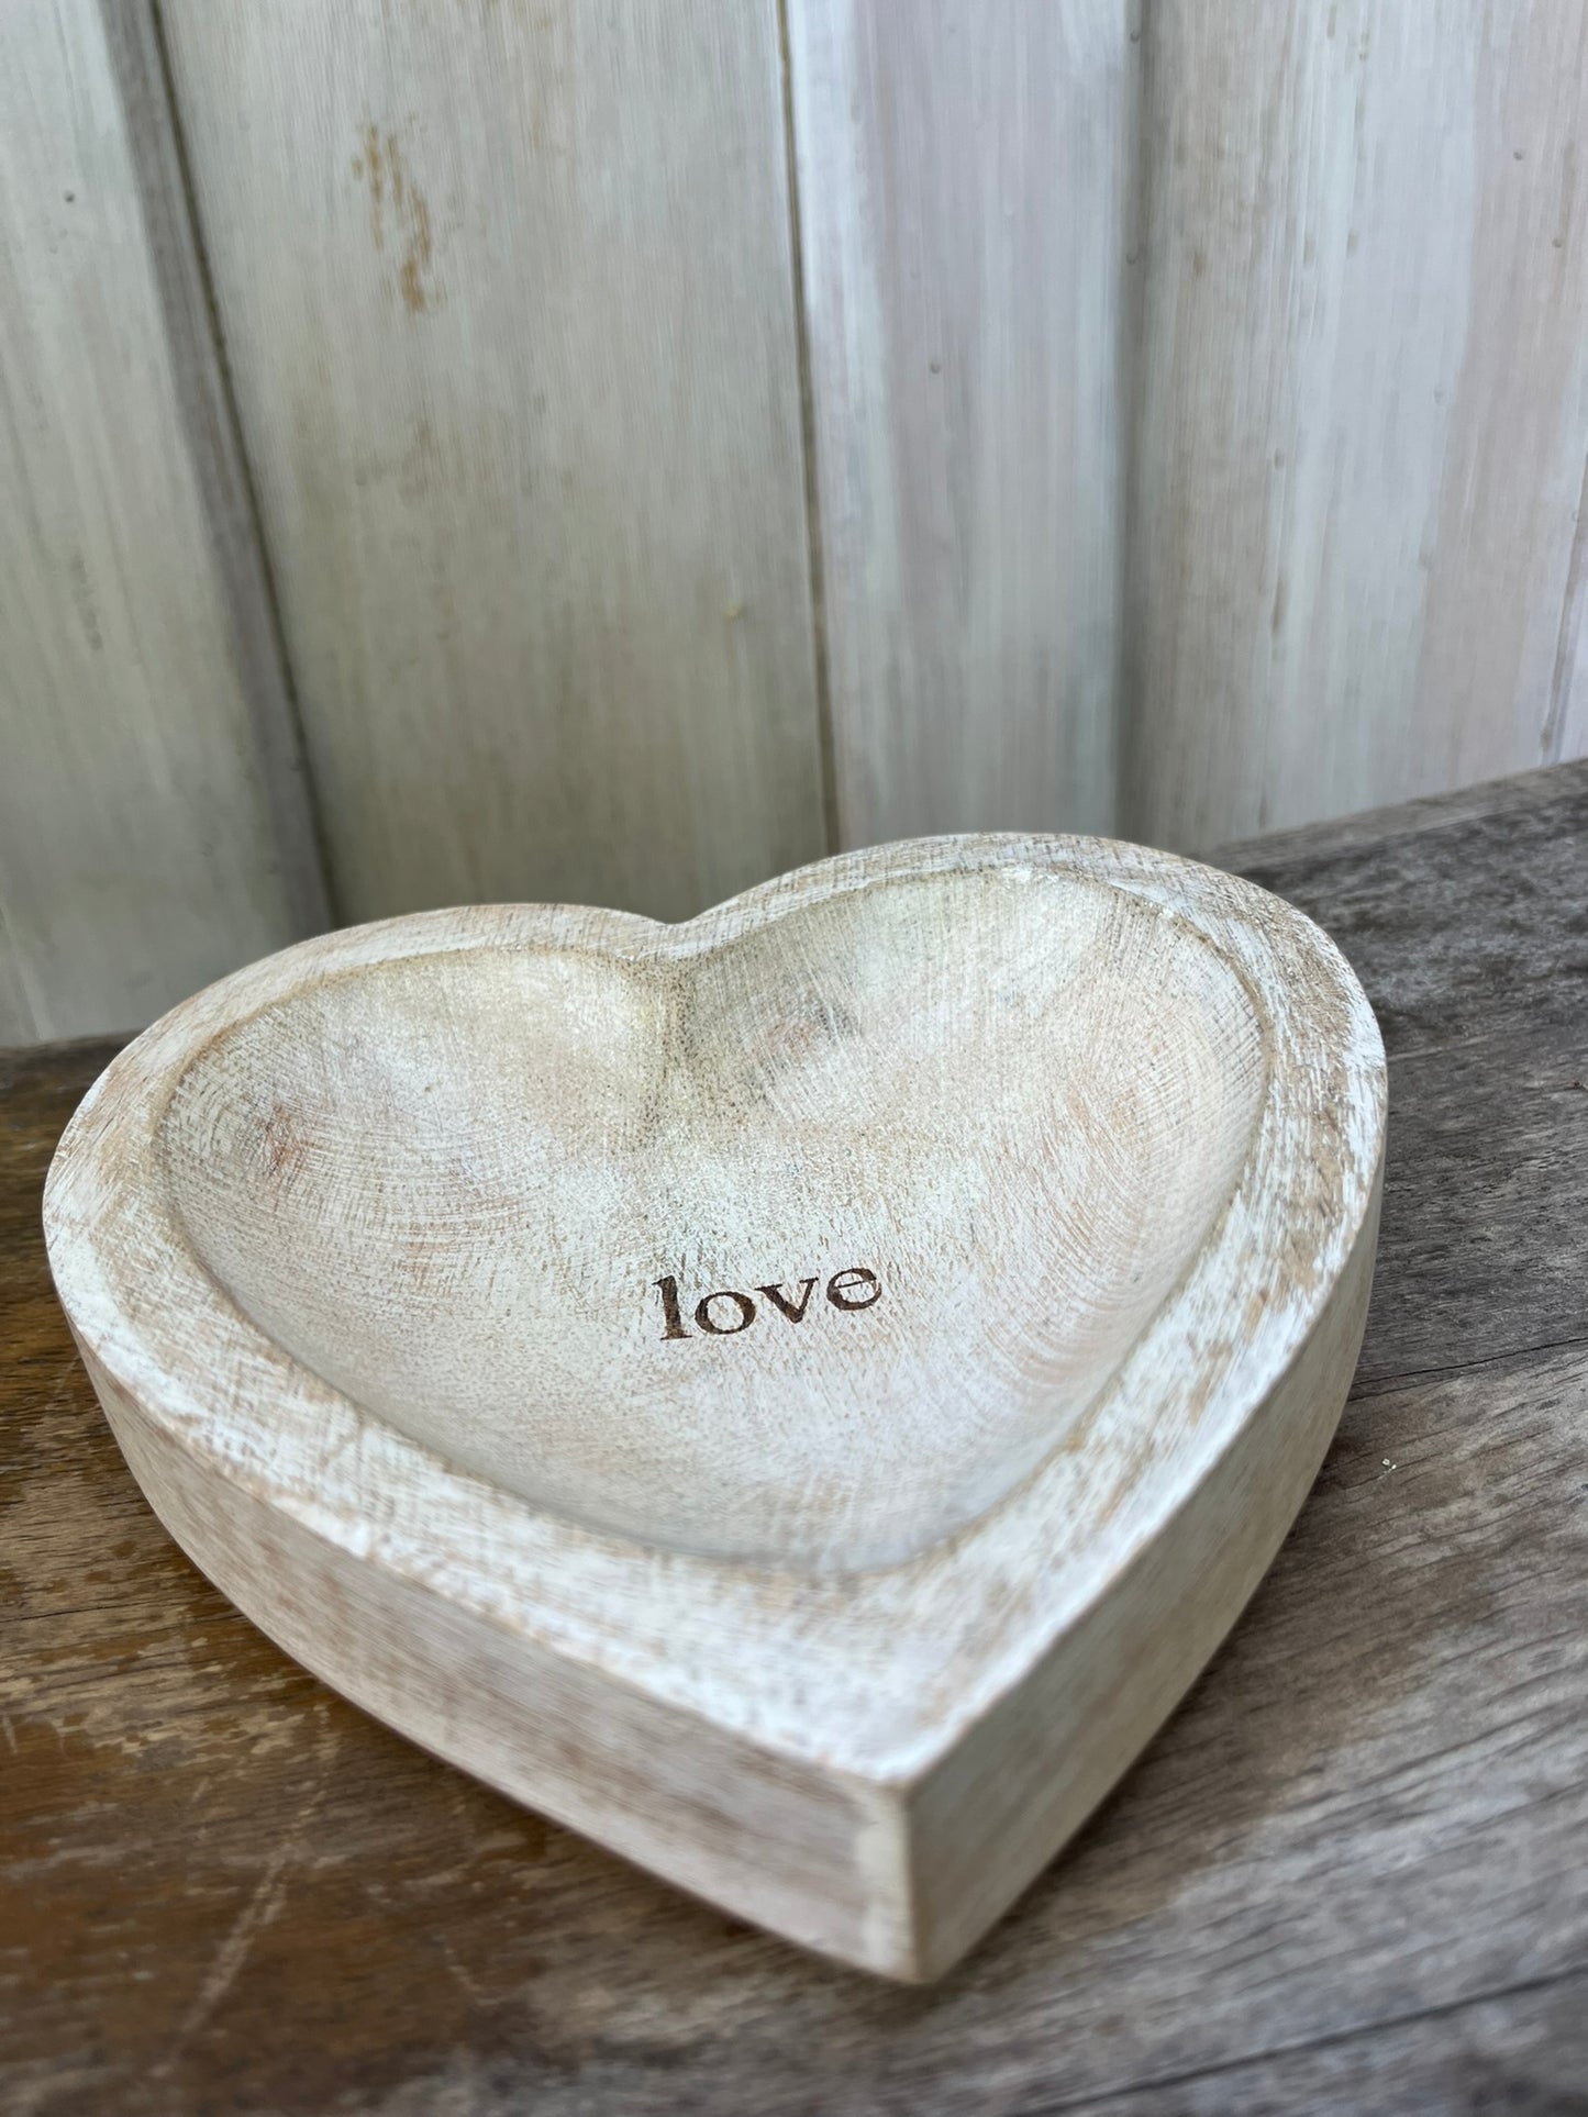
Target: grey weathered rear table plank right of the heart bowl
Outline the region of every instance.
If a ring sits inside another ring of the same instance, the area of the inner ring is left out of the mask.
[[[1588,1336],[1588,766],[1230,849],[1351,957],[1400,1084],[1357,1387]],[[1495,876],[1480,919],[1452,908]],[[1402,1186],[1436,1200],[1400,1213]]]

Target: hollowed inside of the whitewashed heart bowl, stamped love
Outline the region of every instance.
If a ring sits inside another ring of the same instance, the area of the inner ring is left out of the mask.
[[[373,1416],[597,1531],[832,1571],[1080,1444],[1266,1073],[1186,921],[1004,866],[697,953],[349,970],[207,1044],[161,1143],[220,1287]]]

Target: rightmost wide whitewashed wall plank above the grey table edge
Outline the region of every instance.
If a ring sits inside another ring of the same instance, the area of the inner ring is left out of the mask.
[[[1122,824],[1588,747],[1588,15],[1143,13]]]

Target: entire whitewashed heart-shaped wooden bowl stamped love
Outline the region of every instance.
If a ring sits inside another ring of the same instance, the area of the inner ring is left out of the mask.
[[[288,948],[114,1061],[44,1222],[133,1476],[290,1653],[932,1977],[1300,1507],[1383,1135],[1372,1010],[1287,904],[936,838],[680,927]]]

